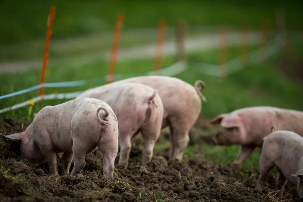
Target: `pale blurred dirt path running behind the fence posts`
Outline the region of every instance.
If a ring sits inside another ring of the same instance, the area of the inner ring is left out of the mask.
[[[201,36],[188,37],[185,40],[185,50],[186,53],[196,52],[196,51],[204,51],[207,49],[218,47],[219,45],[219,34],[204,34]],[[229,44],[238,44],[240,38],[239,32],[230,32],[229,35]],[[257,43],[259,40],[259,33],[253,32],[250,35],[249,43]],[[70,43],[72,44],[72,42]],[[175,41],[168,41],[164,44],[164,55],[174,55],[176,52],[176,44]],[[155,56],[155,44],[149,45],[138,45],[138,46],[129,46],[127,48],[120,48],[118,53],[118,60],[132,60],[132,59],[143,59],[143,58],[153,58]],[[93,54],[87,54],[77,57],[68,57],[64,59],[56,59],[49,58],[48,65],[56,66],[56,65],[65,65],[69,66],[81,66],[91,61],[97,59],[109,59],[110,58],[110,50],[96,52]],[[0,63],[0,73],[4,72],[13,72],[13,71],[24,71],[28,69],[39,69],[42,65],[41,60],[35,61],[15,61],[15,62],[3,62]]]

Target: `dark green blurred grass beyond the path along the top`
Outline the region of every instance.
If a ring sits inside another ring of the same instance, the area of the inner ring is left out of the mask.
[[[46,19],[51,5],[56,6],[53,38],[66,38],[113,30],[118,12],[124,12],[123,29],[157,27],[160,19],[174,26],[179,19],[189,25],[232,26],[250,24],[259,29],[267,20],[275,26],[275,9],[286,11],[286,26],[301,30],[299,1],[5,1],[0,7],[0,43],[18,43],[44,39]]]

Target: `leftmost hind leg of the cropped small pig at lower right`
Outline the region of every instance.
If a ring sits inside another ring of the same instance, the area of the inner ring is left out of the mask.
[[[263,184],[266,180],[266,177],[269,173],[269,171],[275,166],[275,164],[270,161],[268,158],[264,156],[264,154],[261,154],[260,158],[260,175],[257,181],[257,189],[259,191],[262,191]]]

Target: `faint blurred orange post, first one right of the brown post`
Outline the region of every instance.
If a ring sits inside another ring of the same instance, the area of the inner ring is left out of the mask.
[[[227,29],[222,29],[220,32],[220,49],[218,54],[218,76],[223,75],[226,77],[226,68],[228,62],[228,35],[229,31]],[[222,72],[222,73],[221,73]]]

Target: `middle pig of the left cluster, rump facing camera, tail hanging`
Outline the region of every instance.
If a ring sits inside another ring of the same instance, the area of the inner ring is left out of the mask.
[[[142,134],[144,140],[142,165],[146,166],[153,156],[162,126],[163,104],[157,89],[138,83],[125,83],[88,89],[77,97],[102,99],[115,112],[119,122],[118,166],[127,168],[131,140],[138,133]],[[95,155],[100,155],[98,150]]]

